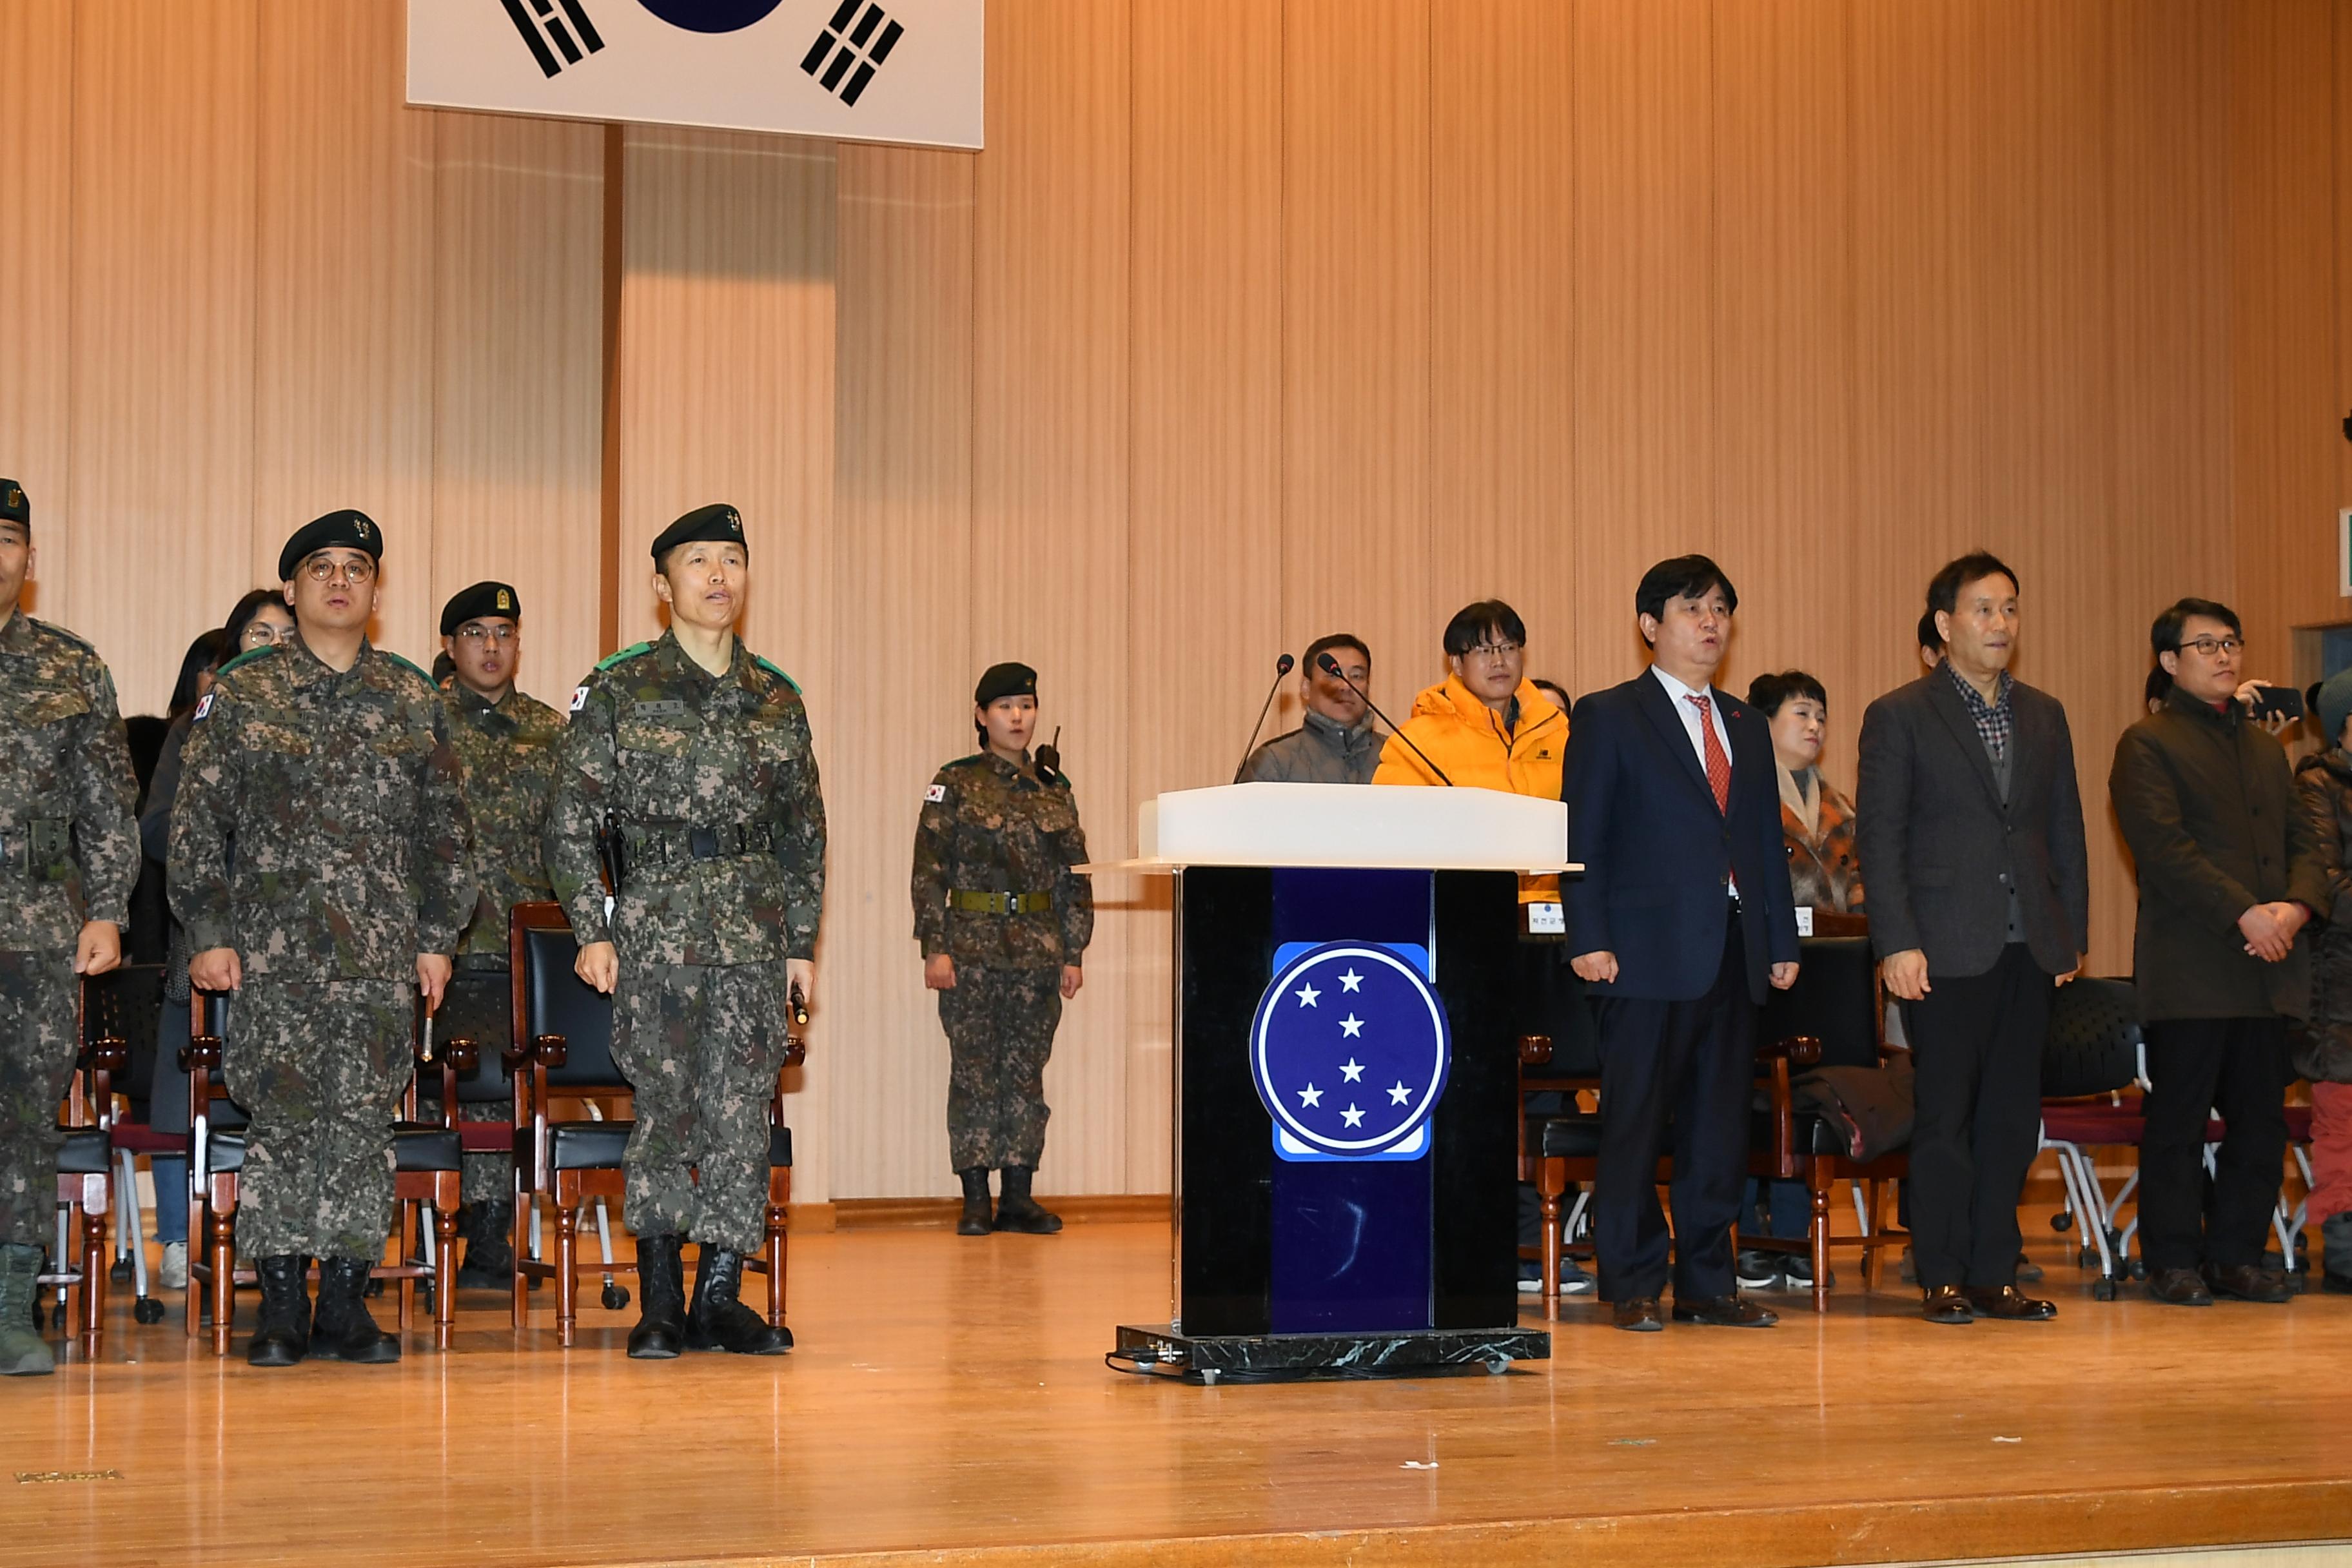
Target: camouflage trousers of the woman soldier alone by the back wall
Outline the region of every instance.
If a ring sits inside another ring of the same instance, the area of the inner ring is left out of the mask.
[[[1044,1063],[1061,1025],[1061,969],[957,964],[938,992],[948,1030],[948,1157],[1037,1168],[1044,1154]]]

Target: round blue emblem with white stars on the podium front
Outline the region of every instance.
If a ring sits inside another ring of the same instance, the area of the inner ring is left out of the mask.
[[[1249,1025],[1249,1077],[1284,1159],[1416,1159],[1454,1034],[1421,969],[1378,943],[1289,957]]]

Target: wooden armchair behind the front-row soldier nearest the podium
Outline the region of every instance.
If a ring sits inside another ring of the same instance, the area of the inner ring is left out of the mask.
[[[515,1032],[508,1067],[515,1077],[515,1328],[529,1326],[532,1279],[555,1281],[555,1340],[579,1338],[579,1222],[588,1199],[619,1204],[621,1157],[635,1121],[567,1121],[555,1100],[619,1100],[628,1079],[612,1060],[612,997],[581,980],[572,964],[579,943],[560,903],[520,903],[508,912],[508,959],[515,985]],[[795,1039],[786,1067],[807,1051]],[[767,1248],[748,1267],[767,1274],[767,1321],[783,1326],[786,1206],[793,1201],[793,1128],[783,1124],[783,1079],[767,1107]],[[555,1260],[529,1255],[529,1215],[546,1199],[553,1208]],[[602,1262],[586,1265],[602,1269]],[[635,1272],[633,1262],[612,1265]]]

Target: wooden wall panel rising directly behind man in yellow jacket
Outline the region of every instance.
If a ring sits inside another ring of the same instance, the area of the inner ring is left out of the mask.
[[[1576,693],[1571,106],[1573,7],[1430,7],[1430,609],[1510,602],[1529,675]]]

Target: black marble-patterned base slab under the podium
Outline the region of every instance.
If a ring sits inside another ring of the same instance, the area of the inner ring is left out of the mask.
[[[1188,1335],[1169,1324],[1120,1324],[1108,1361],[1127,1373],[1164,1373],[1188,1382],[1272,1382],[1294,1378],[1421,1378],[1439,1368],[1550,1361],[1543,1328],[1409,1328],[1397,1333],[1216,1333]]]

